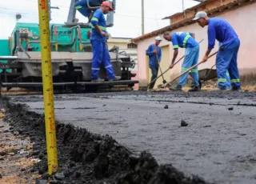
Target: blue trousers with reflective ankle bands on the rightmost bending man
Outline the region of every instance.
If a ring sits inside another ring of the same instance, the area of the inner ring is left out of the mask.
[[[230,74],[230,83],[232,87],[240,88],[240,79],[238,71],[238,50],[240,47],[240,40],[238,38],[228,43],[226,46],[222,46],[222,49],[218,50],[216,57],[216,67],[218,76],[218,88],[221,90],[226,89],[226,71]]]

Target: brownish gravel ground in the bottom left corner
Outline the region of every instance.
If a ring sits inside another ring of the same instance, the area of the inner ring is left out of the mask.
[[[12,123],[3,121],[5,109],[0,104],[0,183],[35,184],[33,166],[39,162],[34,158],[33,144],[29,137],[21,136]]]

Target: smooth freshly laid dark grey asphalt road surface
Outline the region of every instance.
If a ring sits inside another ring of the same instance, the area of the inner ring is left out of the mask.
[[[110,134],[134,153],[148,150],[159,163],[209,182],[256,183],[256,94],[128,92],[56,95],[55,100],[60,122]],[[43,113],[42,96],[12,102]],[[189,126],[180,127],[182,119]]]

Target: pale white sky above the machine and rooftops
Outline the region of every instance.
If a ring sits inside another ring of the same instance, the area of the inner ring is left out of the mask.
[[[199,2],[184,0],[185,9],[197,5]],[[58,6],[59,10],[51,10],[50,23],[64,23],[69,11],[70,0],[51,0],[51,6]],[[133,12],[133,13],[131,13]],[[182,0],[144,0],[145,34],[170,25],[169,20],[162,20],[166,16],[182,12]],[[18,22],[38,23],[37,0],[0,0],[0,39],[10,36],[17,22],[15,15],[22,14]],[[79,12],[79,22],[87,22]],[[112,37],[136,38],[142,35],[142,2],[141,0],[116,0],[114,26],[107,31]]]

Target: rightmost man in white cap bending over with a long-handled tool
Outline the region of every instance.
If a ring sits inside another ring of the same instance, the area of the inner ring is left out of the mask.
[[[208,50],[202,58],[202,62],[208,60],[211,50],[214,48],[215,39],[222,43],[216,57],[218,76],[218,90],[226,90],[226,71],[229,71],[232,90],[240,90],[241,84],[238,71],[238,50],[240,40],[234,28],[222,18],[208,18],[206,12],[199,11],[194,20],[202,27],[208,26]]]

